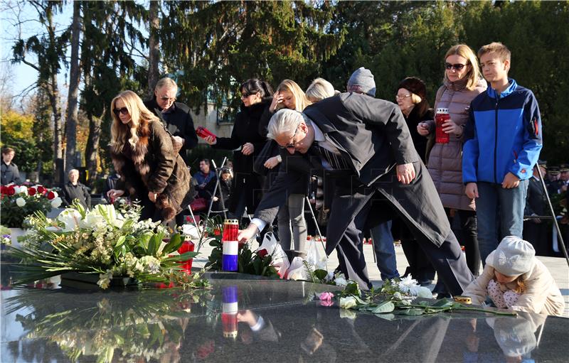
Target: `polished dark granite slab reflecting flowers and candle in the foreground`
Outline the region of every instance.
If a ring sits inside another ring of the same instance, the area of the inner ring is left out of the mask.
[[[9,286],[1,362],[566,362],[569,319],[409,317],[311,301],[329,286],[212,273],[210,290]],[[331,288],[334,288],[333,286]]]

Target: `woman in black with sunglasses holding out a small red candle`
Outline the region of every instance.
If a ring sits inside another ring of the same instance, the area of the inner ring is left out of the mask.
[[[272,102],[270,85],[255,78],[243,82],[240,112],[235,116],[231,137],[206,138],[212,148],[233,151],[233,187],[228,210],[236,218],[257,208],[262,197],[263,178],[253,172],[255,157],[265,145],[265,136],[259,133],[259,122]]]

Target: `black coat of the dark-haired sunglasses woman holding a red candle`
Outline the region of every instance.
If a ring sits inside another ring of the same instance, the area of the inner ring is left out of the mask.
[[[231,137],[219,137],[217,143],[212,146],[216,149],[235,150],[245,143],[252,143],[255,148],[250,155],[243,155],[240,150],[233,151],[233,193],[228,207],[232,212],[235,211],[241,194],[245,193],[246,207],[249,212],[255,210],[262,196],[263,178],[253,171],[253,163],[262,147],[265,146],[265,136],[259,134],[259,122],[271,101],[272,97],[267,97],[250,107],[241,104],[241,111],[235,117]]]

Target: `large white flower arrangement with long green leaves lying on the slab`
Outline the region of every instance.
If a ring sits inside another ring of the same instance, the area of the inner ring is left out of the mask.
[[[196,252],[177,254],[183,240],[178,233],[151,220],[139,221],[141,207],[121,213],[112,205],[93,210],[75,204],[56,220],[42,212],[29,218],[31,229],[21,237],[21,249],[9,253],[22,260],[18,283],[36,281],[62,273],[97,273],[101,288],[112,278],[135,278],[139,282],[168,283],[181,273],[180,261]],[[164,242],[164,239],[169,239]]]

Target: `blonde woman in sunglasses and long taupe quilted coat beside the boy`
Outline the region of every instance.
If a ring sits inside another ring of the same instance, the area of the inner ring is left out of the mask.
[[[442,131],[449,135],[447,143],[435,143],[430,151],[427,146],[427,168],[435,182],[442,205],[452,224],[456,215],[460,219],[467,264],[474,274],[479,275],[480,253],[474,199],[464,195],[462,183],[462,133],[468,121],[470,102],[486,90],[478,60],[468,45],[452,46],[445,55],[445,79],[437,91],[436,109],[448,109],[450,119],[442,124]],[[421,122],[417,131],[422,136],[435,132],[435,121]],[[461,234],[457,234],[460,236]],[[442,283],[435,286],[436,293],[445,295]]]

